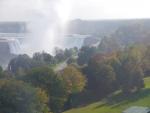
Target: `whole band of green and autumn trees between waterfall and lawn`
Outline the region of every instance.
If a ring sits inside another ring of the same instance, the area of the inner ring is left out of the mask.
[[[18,55],[0,69],[0,112],[61,113],[121,90],[130,95],[150,74],[150,46],[104,52],[99,47]],[[54,65],[67,62],[59,72]]]

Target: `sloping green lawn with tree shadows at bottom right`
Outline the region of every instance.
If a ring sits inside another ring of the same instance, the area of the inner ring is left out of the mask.
[[[123,96],[121,92],[115,92],[110,97],[100,102],[85,107],[75,108],[64,113],[122,113],[130,106],[150,107],[150,77],[145,80],[145,88],[130,96]]]

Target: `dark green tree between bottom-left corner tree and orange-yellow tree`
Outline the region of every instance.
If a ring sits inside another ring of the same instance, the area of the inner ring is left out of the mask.
[[[33,68],[23,77],[23,80],[35,87],[44,89],[48,93],[49,107],[54,113],[62,111],[67,92],[63,81],[52,69],[49,67]]]

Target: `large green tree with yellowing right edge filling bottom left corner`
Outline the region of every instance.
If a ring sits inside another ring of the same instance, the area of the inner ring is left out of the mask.
[[[45,92],[16,80],[0,80],[1,113],[49,113]]]

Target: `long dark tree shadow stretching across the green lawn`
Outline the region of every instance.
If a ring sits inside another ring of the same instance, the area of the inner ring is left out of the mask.
[[[110,105],[111,108],[116,108],[122,105],[127,105],[130,102],[138,101],[141,98],[145,98],[150,96],[150,89],[142,89],[136,93],[130,94],[130,95],[124,95],[121,92],[111,95],[106,99],[106,102],[103,104],[100,104],[95,107],[95,109],[103,107],[105,105]]]

